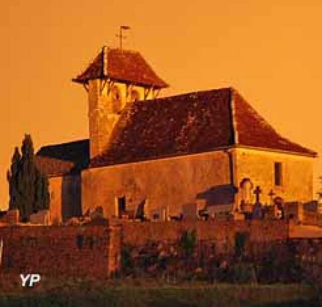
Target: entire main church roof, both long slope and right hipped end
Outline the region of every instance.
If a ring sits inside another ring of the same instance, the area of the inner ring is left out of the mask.
[[[235,90],[223,88],[129,104],[115,127],[109,149],[94,158],[91,166],[230,146],[316,155],[281,137]]]

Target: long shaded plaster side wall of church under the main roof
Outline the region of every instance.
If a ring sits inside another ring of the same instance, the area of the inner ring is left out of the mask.
[[[82,172],[82,209],[102,207],[117,216],[118,198],[136,212],[145,201],[152,218],[182,213],[183,206],[205,199],[209,205],[233,203],[230,161],[224,151],[86,169]]]

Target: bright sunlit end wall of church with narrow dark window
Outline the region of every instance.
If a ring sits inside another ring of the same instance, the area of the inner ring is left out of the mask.
[[[282,163],[282,185],[274,184],[274,162]],[[271,204],[271,190],[274,197],[281,197],[285,202],[309,202],[313,197],[313,158],[286,153],[269,152],[246,148],[233,150],[234,184],[249,178],[253,188],[262,190],[260,201]],[[240,203],[237,195],[236,202]],[[255,203],[255,195],[253,195]]]

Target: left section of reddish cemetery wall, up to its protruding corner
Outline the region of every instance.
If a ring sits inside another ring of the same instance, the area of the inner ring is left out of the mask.
[[[0,227],[5,272],[105,278],[120,269],[119,227]]]

